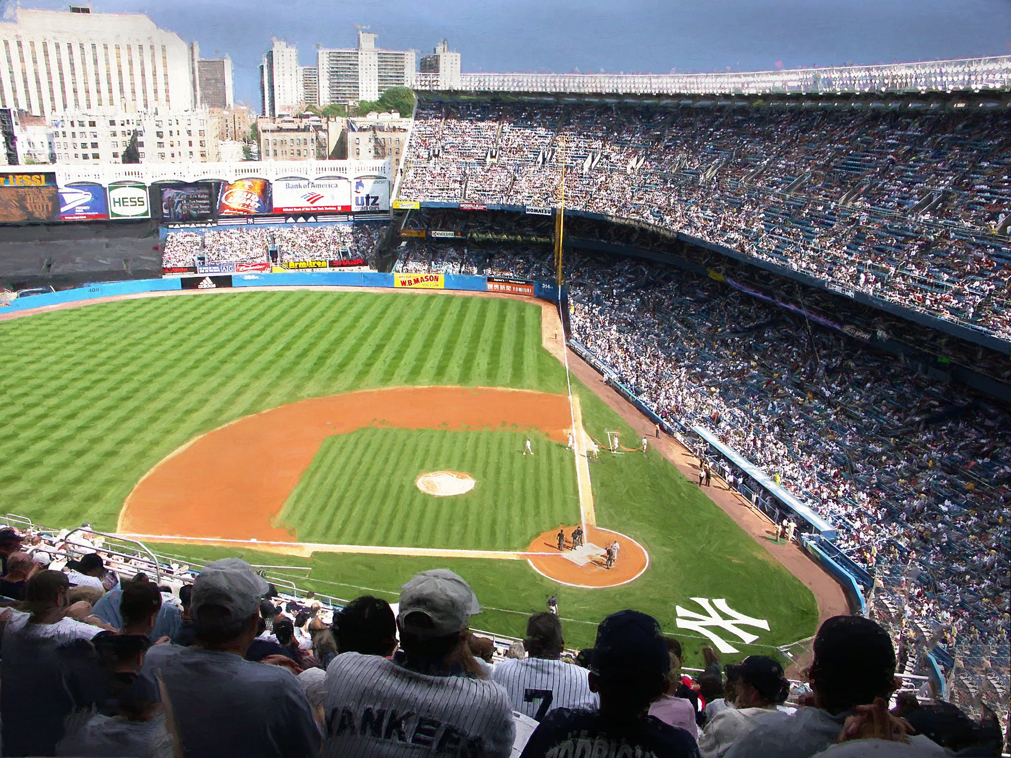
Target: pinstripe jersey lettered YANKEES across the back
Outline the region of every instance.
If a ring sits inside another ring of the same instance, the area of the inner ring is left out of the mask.
[[[323,758],[509,758],[516,727],[494,682],[344,653],[327,669]]]

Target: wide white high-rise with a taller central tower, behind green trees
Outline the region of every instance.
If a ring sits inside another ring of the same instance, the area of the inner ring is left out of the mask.
[[[376,37],[359,30],[358,48],[318,51],[319,105],[378,100],[392,87],[413,87],[415,51],[376,48]]]

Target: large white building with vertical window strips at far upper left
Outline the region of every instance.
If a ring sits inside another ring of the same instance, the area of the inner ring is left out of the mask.
[[[12,13],[0,21],[0,107],[49,117],[194,106],[186,42],[147,16],[74,6]]]

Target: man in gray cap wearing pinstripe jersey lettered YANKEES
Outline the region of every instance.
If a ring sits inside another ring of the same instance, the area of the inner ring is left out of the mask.
[[[392,660],[342,653],[327,669],[323,755],[510,756],[509,697],[464,665],[467,626],[477,612],[470,586],[448,569],[424,571],[404,584],[401,651]]]

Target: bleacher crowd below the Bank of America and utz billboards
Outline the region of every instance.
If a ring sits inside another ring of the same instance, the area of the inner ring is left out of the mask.
[[[375,247],[385,226],[368,223],[239,226],[200,231],[170,231],[165,240],[165,268],[219,263],[265,263],[276,248],[280,263],[362,258],[374,266]]]

